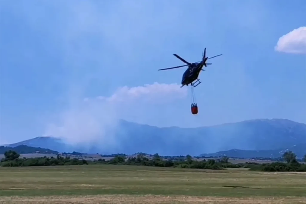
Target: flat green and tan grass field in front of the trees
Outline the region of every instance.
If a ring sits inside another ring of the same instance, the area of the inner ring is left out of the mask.
[[[246,169],[213,171],[120,165],[1,167],[0,203],[295,204],[306,202],[305,182],[305,173]]]

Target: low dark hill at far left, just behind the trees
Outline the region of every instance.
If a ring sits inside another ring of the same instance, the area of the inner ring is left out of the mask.
[[[16,151],[18,154],[33,154],[33,153],[39,153],[39,154],[58,154],[57,151],[49,150],[45,148],[40,147],[29,147],[27,145],[19,145],[17,147],[5,147],[0,146],[0,154],[4,154],[6,151]]]

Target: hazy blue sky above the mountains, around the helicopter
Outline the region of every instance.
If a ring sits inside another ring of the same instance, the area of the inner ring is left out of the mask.
[[[305,32],[275,48],[305,26],[305,6],[2,0],[0,143],[95,134],[119,118],[163,127],[256,118],[305,123],[305,54],[288,51],[306,49]],[[194,116],[189,87],[178,88],[185,68],[157,69],[182,65],[173,53],[199,61],[205,47],[208,56],[223,55],[200,73]]]

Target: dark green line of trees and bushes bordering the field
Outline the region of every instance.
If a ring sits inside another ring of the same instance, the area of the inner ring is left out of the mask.
[[[249,168],[252,171],[306,171],[306,165],[297,161],[296,155],[291,152],[285,152],[283,160],[285,162],[273,162],[269,164],[259,164],[256,162],[246,162],[233,164],[223,157],[215,159],[195,160],[190,155],[180,160],[164,160],[158,154],[154,154],[152,159],[138,154],[136,157],[126,158],[124,155],[116,155],[111,160],[99,159],[87,161],[85,159],[62,157],[59,154],[57,157],[41,157],[41,158],[19,158],[20,155],[12,150],[5,152],[5,158],[1,160],[1,166],[17,167],[17,166],[50,166],[50,165],[141,165],[141,166],[156,166],[156,167],[176,167],[189,169],[226,169],[226,168]],[[304,157],[306,159],[306,157]]]

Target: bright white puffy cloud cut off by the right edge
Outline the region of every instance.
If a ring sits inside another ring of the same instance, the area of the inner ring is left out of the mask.
[[[301,26],[280,37],[274,49],[278,52],[306,54],[306,27]]]

